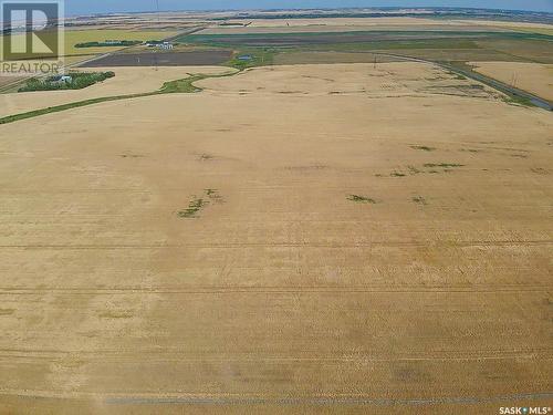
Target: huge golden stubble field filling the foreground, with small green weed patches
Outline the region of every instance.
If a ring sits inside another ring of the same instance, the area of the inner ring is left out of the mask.
[[[414,63],[201,85],[0,127],[0,413],[551,404],[550,113]]]

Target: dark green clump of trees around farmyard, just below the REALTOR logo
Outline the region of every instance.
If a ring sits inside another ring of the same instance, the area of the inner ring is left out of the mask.
[[[25,82],[18,92],[36,92],[36,91],[63,91],[63,90],[83,90],[95,83],[103,82],[109,77],[114,77],[115,73],[108,72],[70,72],[67,80],[64,81],[60,76],[49,76],[46,79],[33,77]]]

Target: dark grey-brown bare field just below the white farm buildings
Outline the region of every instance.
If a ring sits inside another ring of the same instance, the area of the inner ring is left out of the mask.
[[[119,53],[86,62],[82,66],[209,66],[223,63],[231,55],[231,51]]]

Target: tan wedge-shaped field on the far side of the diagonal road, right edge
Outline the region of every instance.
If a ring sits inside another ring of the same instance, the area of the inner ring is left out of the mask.
[[[474,71],[553,102],[553,65],[523,62],[473,62]]]

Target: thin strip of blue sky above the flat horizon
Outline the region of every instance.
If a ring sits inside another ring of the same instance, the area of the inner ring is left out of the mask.
[[[67,14],[156,9],[156,0],[65,0]],[[553,12],[553,0],[159,0],[161,10],[276,9],[335,7],[476,7]]]

